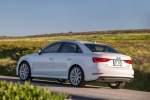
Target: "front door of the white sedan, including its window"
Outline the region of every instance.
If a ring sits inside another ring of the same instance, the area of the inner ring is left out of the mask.
[[[52,76],[55,54],[61,45],[61,42],[52,43],[43,48],[41,54],[35,56],[32,68],[33,75]]]

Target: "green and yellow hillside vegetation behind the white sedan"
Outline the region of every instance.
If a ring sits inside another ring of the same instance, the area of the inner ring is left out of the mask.
[[[108,44],[132,57],[135,79],[125,88],[150,91],[150,30],[59,33],[0,39],[0,74],[15,76],[18,59],[56,40],[85,40]],[[94,85],[99,83],[94,82]]]

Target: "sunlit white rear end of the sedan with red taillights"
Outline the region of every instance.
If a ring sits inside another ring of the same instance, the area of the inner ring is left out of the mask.
[[[104,82],[131,81],[134,78],[131,57],[116,53],[96,53],[93,63],[98,69],[92,73]]]

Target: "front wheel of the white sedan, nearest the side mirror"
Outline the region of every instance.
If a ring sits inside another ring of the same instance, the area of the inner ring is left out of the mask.
[[[26,81],[26,80],[32,81],[33,77],[31,77],[30,65],[27,62],[22,62],[20,64],[18,72],[19,72],[20,80],[22,80],[22,81]]]

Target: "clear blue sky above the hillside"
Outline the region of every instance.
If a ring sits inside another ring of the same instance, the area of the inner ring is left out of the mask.
[[[150,0],[0,0],[0,36],[150,29]]]

